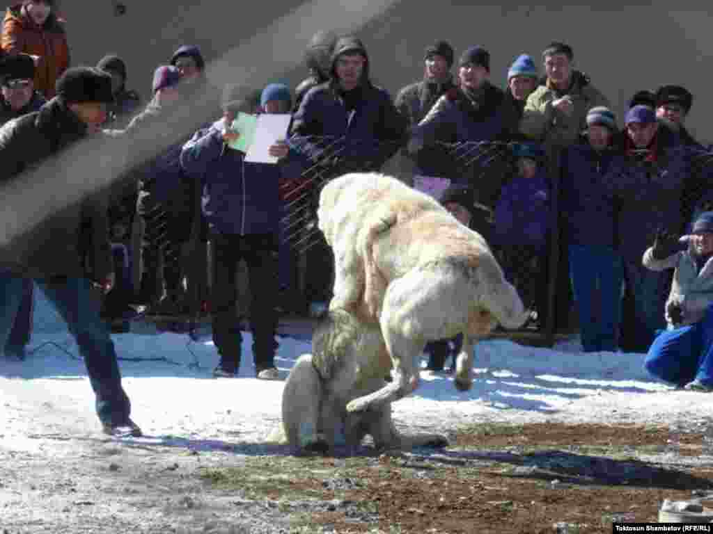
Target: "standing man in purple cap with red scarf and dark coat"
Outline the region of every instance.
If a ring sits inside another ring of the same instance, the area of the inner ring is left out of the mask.
[[[658,230],[684,233],[709,177],[692,172],[689,150],[648,106],[631,108],[625,124],[625,162],[619,172],[608,173],[607,184],[615,202],[618,247],[630,296],[625,298],[621,347],[646,352],[655,331],[665,326],[661,310],[670,277],[649,271],[641,258]]]

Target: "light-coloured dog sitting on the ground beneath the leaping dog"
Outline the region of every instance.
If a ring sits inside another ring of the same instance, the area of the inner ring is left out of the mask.
[[[379,451],[445,446],[434,434],[405,436],[391,419],[391,404],[350,413],[353,399],[378,391],[391,370],[379,325],[345,310],[329,310],[312,335],[312,354],[299,357],[282,393],[283,440],[295,454],[354,451],[370,435]]]

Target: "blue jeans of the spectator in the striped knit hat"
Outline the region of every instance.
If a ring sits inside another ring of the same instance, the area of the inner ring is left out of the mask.
[[[622,258],[607,246],[570,245],[569,260],[582,347],[585,352],[614,352],[621,318]],[[597,286],[599,313],[595,314]]]

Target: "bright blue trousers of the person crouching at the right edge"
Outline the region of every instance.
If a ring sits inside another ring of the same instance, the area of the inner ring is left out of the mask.
[[[660,333],[646,355],[645,369],[682,386],[696,379],[713,386],[713,306],[698,323]]]

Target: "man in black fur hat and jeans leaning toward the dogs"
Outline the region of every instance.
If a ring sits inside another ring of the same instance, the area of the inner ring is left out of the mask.
[[[106,104],[112,100],[111,78],[92,68],[71,68],[57,80],[56,93],[38,112],[13,120],[0,130],[0,182],[6,187],[20,174],[34,172],[39,166],[48,176],[61,180],[61,164],[71,162],[63,152],[71,152],[73,145],[80,143],[84,150],[102,150],[106,143],[100,129],[106,120]],[[67,179],[71,183],[76,178]],[[57,187],[61,194],[66,184],[47,187]],[[85,219],[90,221],[91,238],[82,231]],[[91,241],[91,246],[86,241]],[[93,281],[104,290],[113,284],[106,204],[95,197],[54,212],[0,250],[0,267],[17,276],[34,278],[68,324],[86,363],[103,431],[140,435],[129,417],[130,403],[121,387],[116,351],[99,316],[99,302],[92,288]],[[21,280],[3,278],[2,283],[12,286]],[[17,300],[7,296],[16,293],[6,288],[0,293],[9,300],[1,307],[4,318],[11,318]],[[6,342],[8,324],[0,321],[0,346]]]

